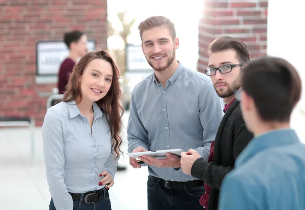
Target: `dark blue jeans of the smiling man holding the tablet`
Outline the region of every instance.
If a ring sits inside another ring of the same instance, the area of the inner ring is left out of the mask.
[[[148,176],[148,210],[202,210],[199,198],[204,194],[204,186],[189,190],[172,190],[156,183],[156,178]]]

